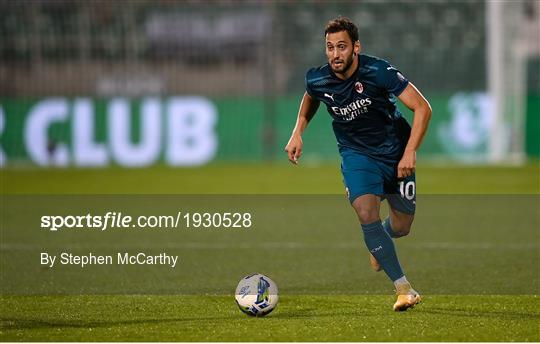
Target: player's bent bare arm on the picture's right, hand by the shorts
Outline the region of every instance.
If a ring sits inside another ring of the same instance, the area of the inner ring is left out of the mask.
[[[426,134],[431,118],[431,106],[411,82],[409,82],[398,98],[414,112],[411,136],[405,146],[405,152],[397,168],[398,178],[405,178],[412,175],[416,168],[416,151]]]

